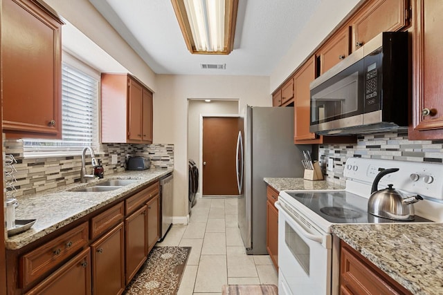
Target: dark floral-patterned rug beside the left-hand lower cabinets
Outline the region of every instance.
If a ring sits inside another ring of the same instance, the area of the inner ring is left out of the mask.
[[[190,251],[191,247],[154,247],[125,294],[177,294]]]

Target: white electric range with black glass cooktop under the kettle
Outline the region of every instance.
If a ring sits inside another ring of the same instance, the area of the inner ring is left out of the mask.
[[[331,226],[338,223],[407,223],[443,221],[443,164],[349,158],[346,189],[282,191],[278,207],[279,294],[338,294],[338,239]],[[381,178],[377,189],[393,184],[415,203],[414,220],[399,221],[368,213],[372,183],[380,171],[397,168]]]

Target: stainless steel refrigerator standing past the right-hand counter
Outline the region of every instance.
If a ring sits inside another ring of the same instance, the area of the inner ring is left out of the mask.
[[[293,107],[246,106],[237,140],[238,225],[246,254],[266,251],[266,183],[303,177],[302,151],[293,143]]]

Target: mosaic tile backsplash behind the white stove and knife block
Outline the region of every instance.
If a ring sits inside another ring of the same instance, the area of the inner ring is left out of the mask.
[[[345,185],[343,169],[347,158],[443,162],[443,140],[408,140],[407,133],[359,135],[356,144],[320,144],[318,159],[325,180]],[[327,171],[328,159],[334,159],[334,171]]]

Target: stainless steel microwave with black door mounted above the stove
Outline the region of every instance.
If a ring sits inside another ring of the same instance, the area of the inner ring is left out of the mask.
[[[408,126],[407,32],[382,32],[310,84],[309,131],[374,133]]]

